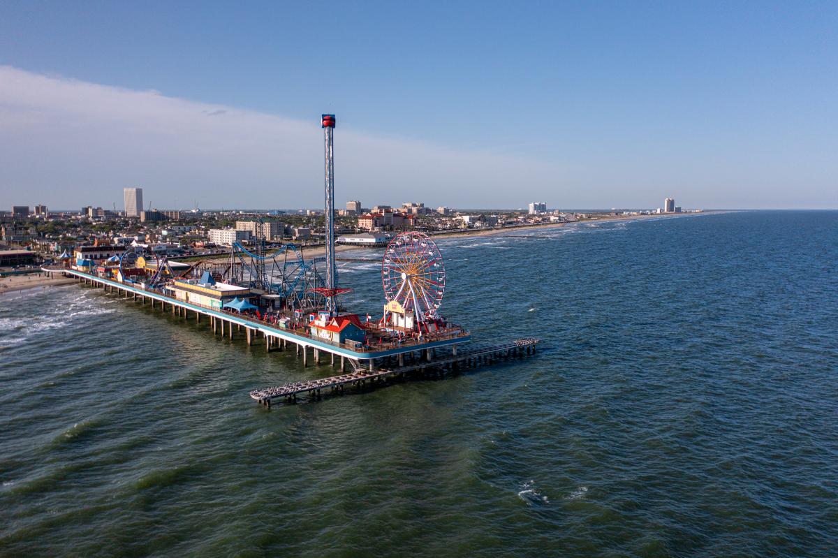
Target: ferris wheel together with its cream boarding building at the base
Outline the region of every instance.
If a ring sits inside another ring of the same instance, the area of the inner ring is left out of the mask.
[[[382,328],[422,335],[443,327],[439,307],[445,264],[428,235],[404,232],[391,240],[381,262],[381,282],[387,299]]]

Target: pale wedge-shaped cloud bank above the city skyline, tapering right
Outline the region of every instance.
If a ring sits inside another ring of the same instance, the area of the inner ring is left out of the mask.
[[[0,66],[0,193],[7,204],[120,207],[122,188],[137,185],[159,208],[194,200],[319,207],[318,116],[299,121]],[[335,143],[339,202],[520,206],[557,174],[550,163],[376,137],[340,121]]]

